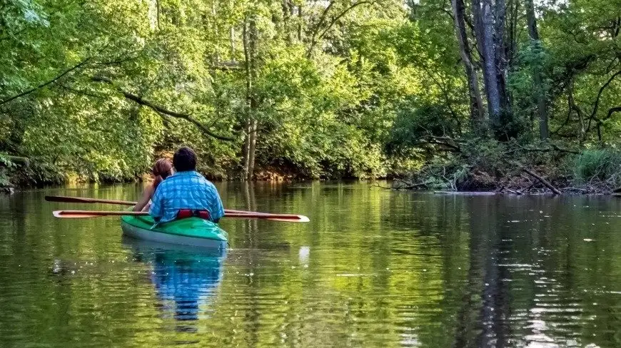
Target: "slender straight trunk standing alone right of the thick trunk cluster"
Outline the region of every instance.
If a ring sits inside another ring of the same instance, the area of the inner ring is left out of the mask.
[[[541,51],[541,41],[539,31],[537,31],[537,20],[535,19],[535,4],[532,0],[526,0],[526,21],[528,24],[528,34],[530,35],[530,45],[532,51]],[[535,93],[537,93],[537,113],[539,114],[539,136],[542,141],[547,140],[549,130],[547,126],[547,106],[545,98],[545,86],[541,78],[541,65],[539,60],[535,60],[533,66],[533,81],[535,82]]]

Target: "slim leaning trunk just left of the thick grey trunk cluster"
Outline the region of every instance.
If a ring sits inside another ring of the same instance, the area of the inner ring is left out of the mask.
[[[479,81],[477,71],[472,63],[472,51],[468,44],[468,35],[465,30],[465,4],[463,0],[451,0],[453,7],[453,16],[455,18],[455,36],[460,48],[460,55],[465,67],[466,77],[468,78],[468,93],[470,94],[470,123],[473,129],[480,131],[483,128],[483,119],[485,118],[485,110],[483,108],[483,99],[479,89]]]

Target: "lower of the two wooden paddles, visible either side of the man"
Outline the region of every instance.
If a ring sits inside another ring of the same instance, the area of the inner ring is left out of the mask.
[[[55,210],[56,218],[99,218],[101,216],[119,216],[133,215],[146,216],[148,212],[130,212],[130,211],[99,211],[99,210]],[[243,219],[263,219],[284,222],[308,222],[310,221],[304,215],[291,214],[267,214],[267,213],[226,213],[224,218],[243,218]]]

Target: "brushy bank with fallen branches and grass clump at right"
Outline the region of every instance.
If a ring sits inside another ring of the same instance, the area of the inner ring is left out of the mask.
[[[396,178],[395,190],[493,192],[513,195],[612,194],[621,191],[621,153],[557,145],[470,143]]]

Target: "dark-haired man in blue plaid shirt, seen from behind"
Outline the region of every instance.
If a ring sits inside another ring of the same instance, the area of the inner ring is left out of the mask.
[[[198,216],[218,222],[224,216],[222,200],[213,183],[196,172],[196,153],[180,148],[173,156],[176,173],[158,185],[148,213],[157,222]]]

